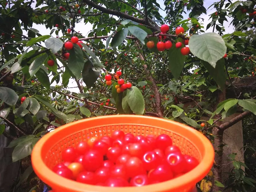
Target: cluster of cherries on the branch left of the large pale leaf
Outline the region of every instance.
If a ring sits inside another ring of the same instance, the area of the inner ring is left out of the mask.
[[[162,34],[166,34],[169,31],[169,29],[170,29],[169,26],[166,25],[166,24],[161,26],[161,28],[160,28],[161,32],[159,33],[159,39],[161,41],[159,41],[156,44],[156,48],[158,49],[158,51],[164,51],[165,49],[171,49],[172,48],[172,42],[171,41],[169,41],[169,40],[165,41],[165,42],[162,41],[162,39],[166,39],[167,38],[167,36],[163,36]],[[185,32],[185,30],[184,30],[183,27],[177,27],[176,30],[175,30],[175,33],[176,33],[177,36],[179,36],[180,34],[183,34],[184,32]],[[188,41],[189,41],[188,39],[183,40],[183,44],[184,45],[188,45]],[[182,46],[181,42],[177,42],[175,44],[175,47],[177,49],[179,49],[181,46]],[[147,47],[149,49],[154,48],[155,47],[154,41],[148,41]],[[189,47],[181,48],[180,52],[181,52],[182,55],[188,55],[189,52],[190,52]]]

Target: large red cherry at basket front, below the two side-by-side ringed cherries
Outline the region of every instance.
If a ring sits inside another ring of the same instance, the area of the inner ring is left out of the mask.
[[[173,173],[171,168],[167,164],[160,164],[148,172],[148,180],[150,183],[163,182],[173,178]]]

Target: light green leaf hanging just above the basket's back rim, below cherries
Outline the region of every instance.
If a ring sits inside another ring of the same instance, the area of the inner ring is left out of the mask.
[[[143,115],[145,110],[145,102],[139,88],[132,86],[127,94],[128,104],[136,115]]]

